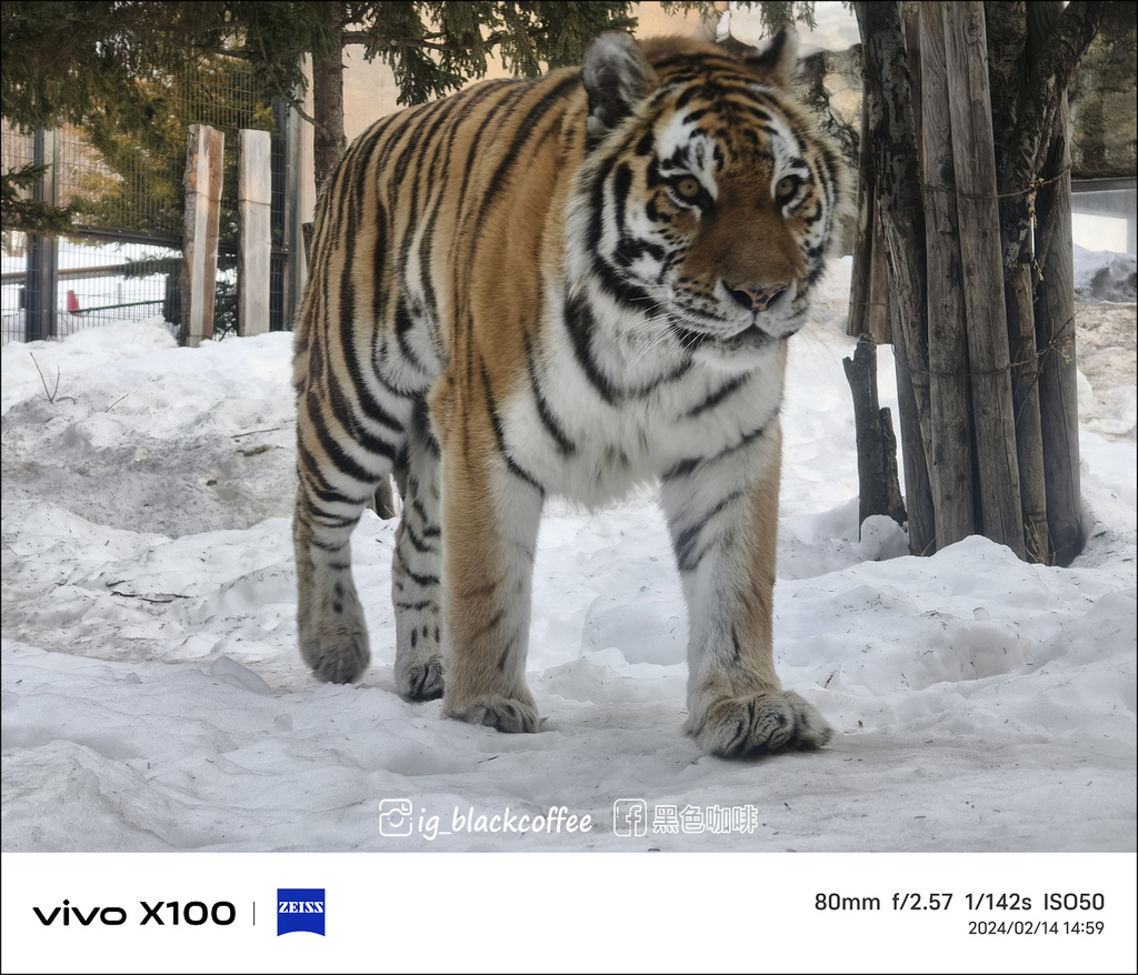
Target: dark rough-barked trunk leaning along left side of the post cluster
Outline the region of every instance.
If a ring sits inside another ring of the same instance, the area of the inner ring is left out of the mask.
[[[871,124],[861,138],[872,140],[876,197],[889,258],[909,551],[932,554],[937,537],[929,488],[932,427],[925,226],[904,17],[898,2],[858,2],[855,13],[865,53],[865,86],[873,92]]]

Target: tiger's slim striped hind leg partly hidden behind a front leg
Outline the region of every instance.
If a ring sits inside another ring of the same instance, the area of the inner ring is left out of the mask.
[[[415,403],[404,455],[396,470],[403,514],[395,532],[391,603],[395,606],[395,683],[413,701],[443,695],[439,528],[439,448],[424,400]]]

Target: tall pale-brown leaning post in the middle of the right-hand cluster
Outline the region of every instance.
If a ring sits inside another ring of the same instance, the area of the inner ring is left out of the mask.
[[[943,16],[983,534],[1024,559],[983,5]]]

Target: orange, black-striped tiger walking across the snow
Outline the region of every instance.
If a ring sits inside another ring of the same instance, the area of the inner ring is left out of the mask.
[[[403,497],[391,598],[409,701],[542,727],[526,683],[547,497],[657,481],[687,606],[699,750],[825,745],[774,664],[780,406],[848,204],[792,93],[797,38],[605,33],[579,67],[381,118],[322,188],[295,328],[300,653],[360,679],[351,536]]]

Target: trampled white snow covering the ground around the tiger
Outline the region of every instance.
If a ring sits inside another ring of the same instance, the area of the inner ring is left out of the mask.
[[[743,762],[681,734],[685,611],[650,489],[549,505],[547,721],[502,735],[395,693],[393,522],[354,540],[363,681],[300,661],[290,336],[6,346],[3,850],[1133,851],[1133,304],[1080,306],[1090,537],[1052,569],[979,537],[910,557],[888,520],[858,540],[847,288],[835,264],[792,342],[775,633],[838,734]],[[551,807],[558,831],[533,821]],[[530,828],[492,832],[506,810]]]

